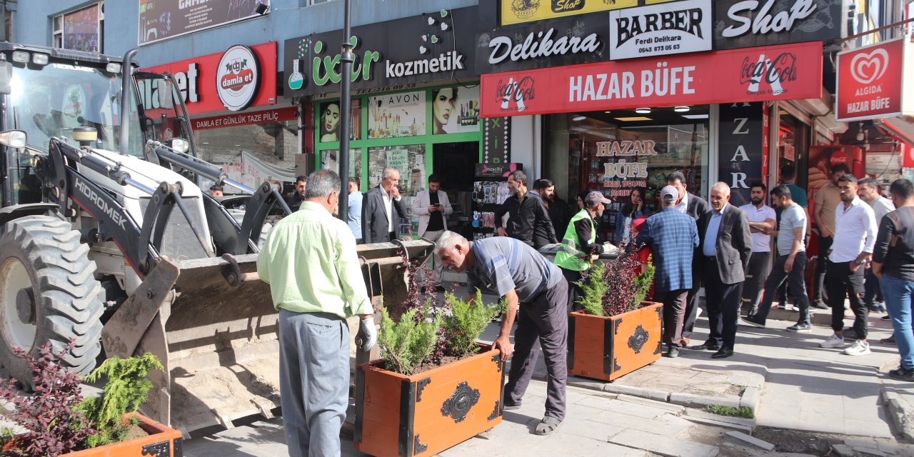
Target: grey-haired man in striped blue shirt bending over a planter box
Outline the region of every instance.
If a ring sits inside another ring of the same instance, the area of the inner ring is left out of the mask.
[[[503,360],[514,353],[505,385],[505,409],[520,408],[537,367],[539,341],[546,356],[548,387],[546,415],[536,431],[540,435],[555,431],[565,419],[568,380],[569,284],[562,272],[523,241],[507,237],[471,243],[455,232],[445,231],[438,239],[435,255],[444,267],[466,271],[471,296],[476,287],[483,286],[508,302],[501,331],[493,345],[502,350]],[[524,313],[517,319],[512,351],[511,327],[518,305],[524,306]]]

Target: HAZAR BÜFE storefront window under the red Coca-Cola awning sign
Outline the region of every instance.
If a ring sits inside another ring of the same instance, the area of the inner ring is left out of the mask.
[[[678,171],[689,192],[707,197],[707,112],[707,106],[692,106],[688,112],[670,107],[550,115],[544,177],[557,183],[573,210],[580,192],[611,197],[598,230],[612,240],[615,218],[634,189],[643,189],[646,207],[654,211],[666,176]]]

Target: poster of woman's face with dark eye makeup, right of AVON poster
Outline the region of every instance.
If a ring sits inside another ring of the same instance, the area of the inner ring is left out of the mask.
[[[479,87],[432,90],[431,112],[436,135],[479,132]]]

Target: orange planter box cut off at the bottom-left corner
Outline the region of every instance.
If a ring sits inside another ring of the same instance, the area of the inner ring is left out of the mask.
[[[134,438],[133,440],[105,444],[97,448],[84,451],[69,452],[61,457],[183,457],[182,438],[179,430],[166,427],[164,424],[151,420],[143,414],[130,412],[124,414],[125,418],[136,417],[140,420],[140,427],[149,433],[149,436]]]

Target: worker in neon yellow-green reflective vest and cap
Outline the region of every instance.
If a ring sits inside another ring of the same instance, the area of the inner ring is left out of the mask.
[[[578,311],[577,303],[582,292],[580,286],[575,284],[581,278],[581,272],[590,268],[590,255],[600,254],[603,247],[597,244],[597,228],[593,225],[593,218],[603,215],[606,205],[612,201],[603,197],[599,191],[593,191],[584,198],[584,208],[574,215],[565,229],[565,236],[556,252],[555,263],[562,269],[562,274],[572,286],[569,291],[569,311]]]

